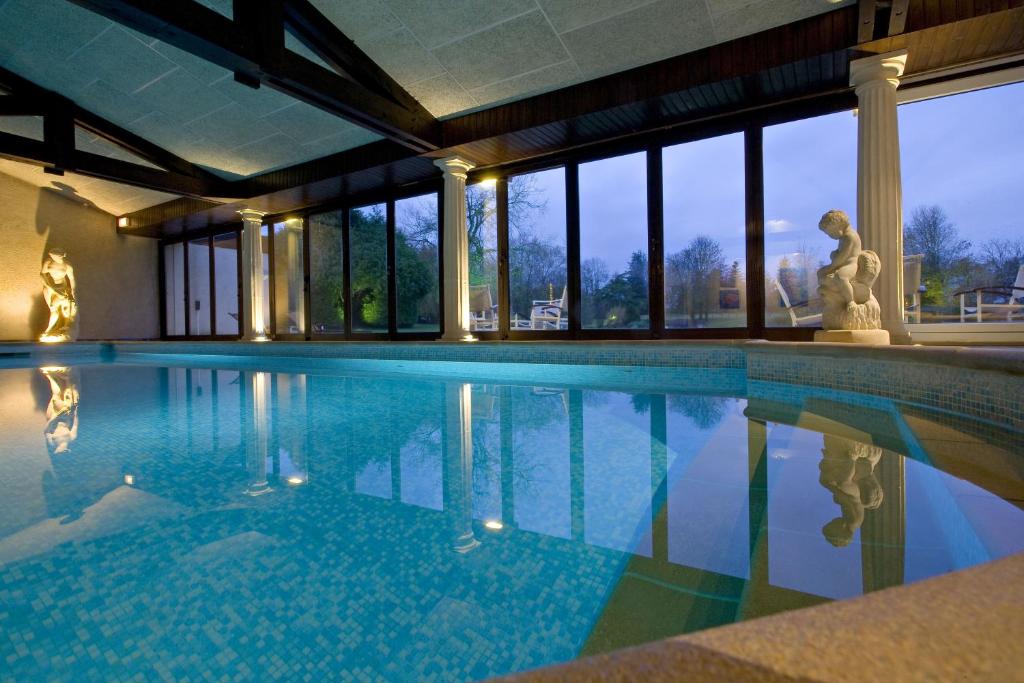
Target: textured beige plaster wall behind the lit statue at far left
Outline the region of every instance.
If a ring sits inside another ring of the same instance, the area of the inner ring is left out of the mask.
[[[75,268],[79,339],[159,337],[157,241],[118,236],[113,216],[53,182],[0,173],[0,340],[36,339],[46,327],[39,269],[54,247]]]

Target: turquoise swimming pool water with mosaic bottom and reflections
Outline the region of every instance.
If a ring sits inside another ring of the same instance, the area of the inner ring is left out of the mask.
[[[62,362],[0,370],[5,681],[480,679],[1024,550],[1020,432],[741,369]]]

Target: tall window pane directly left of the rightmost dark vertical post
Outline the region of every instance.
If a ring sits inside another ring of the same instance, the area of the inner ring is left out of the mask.
[[[665,327],[746,325],[743,134],[666,147]]]

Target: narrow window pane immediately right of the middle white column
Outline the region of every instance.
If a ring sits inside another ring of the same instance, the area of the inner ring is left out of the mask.
[[[498,198],[493,180],[466,187],[470,329],[498,329]]]

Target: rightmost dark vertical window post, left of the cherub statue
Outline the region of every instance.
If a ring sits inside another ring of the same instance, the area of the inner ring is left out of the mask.
[[[764,133],[760,126],[743,134],[743,188],[746,195],[746,329],[759,338],[765,331]]]

